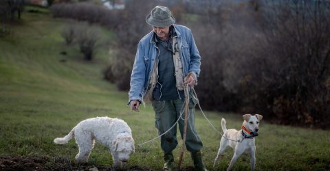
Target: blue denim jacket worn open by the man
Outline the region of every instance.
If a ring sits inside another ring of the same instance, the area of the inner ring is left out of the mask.
[[[181,57],[184,75],[193,72],[199,76],[201,66],[201,56],[195,44],[190,29],[183,25],[174,25],[177,34],[177,43],[179,45],[179,54]],[[153,65],[159,50],[153,40],[154,32],[146,34],[137,44],[137,52],[133,64],[129,90],[129,102],[132,100],[143,101],[142,97],[148,88],[148,82],[151,77]],[[184,78],[182,78],[184,79]]]

